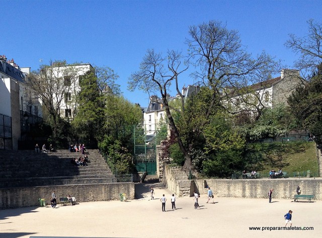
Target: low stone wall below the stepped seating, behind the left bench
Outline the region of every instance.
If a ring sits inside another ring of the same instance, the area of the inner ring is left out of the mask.
[[[134,199],[134,183],[6,188],[0,189],[0,209],[39,205],[38,199],[49,201],[53,190],[57,201],[67,194],[75,197],[77,202],[118,200],[120,193],[125,193],[127,199]]]

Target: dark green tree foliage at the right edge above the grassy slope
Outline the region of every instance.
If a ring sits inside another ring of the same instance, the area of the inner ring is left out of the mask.
[[[299,124],[322,143],[322,64],[305,87],[297,88],[288,99],[291,113]]]

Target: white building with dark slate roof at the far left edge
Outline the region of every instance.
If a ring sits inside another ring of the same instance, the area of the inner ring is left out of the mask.
[[[14,59],[0,55],[0,149],[18,149],[24,127],[32,121],[23,118],[42,116],[38,99],[35,99],[26,86],[30,68],[21,68]]]

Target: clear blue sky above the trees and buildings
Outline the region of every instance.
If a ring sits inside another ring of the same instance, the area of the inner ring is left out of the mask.
[[[50,60],[109,66],[120,76],[124,97],[144,107],[148,95],[127,91],[128,77],[149,48],[186,53],[191,25],[222,21],[239,31],[252,54],[265,50],[293,68],[297,55],[284,46],[288,34],[307,34],[309,19],[322,23],[319,0],[0,0],[0,9],[0,54],[32,70]],[[181,78],[181,86],[192,82],[188,74]]]

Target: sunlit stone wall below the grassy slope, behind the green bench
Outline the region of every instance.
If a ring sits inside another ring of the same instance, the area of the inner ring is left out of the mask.
[[[191,180],[190,193],[185,192],[185,187],[180,187],[182,181],[189,181],[178,177],[175,167],[165,166],[165,186],[177,196],[193,196],[196,191],[199,194],[207,194],[207,186],[218,197],[240,197],[240,198],[267,198],[268,190],[274,189],[273,198],[291,199],[297,186],[301,187],[302,194],[313,194],[314,199],[322,200],[322,178],[287,178],[287,179],[206,179]]]

